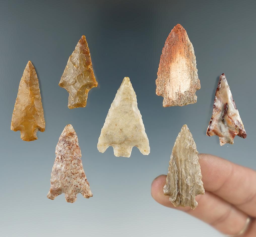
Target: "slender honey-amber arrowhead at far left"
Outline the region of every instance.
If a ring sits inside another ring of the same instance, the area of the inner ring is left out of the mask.
[[[45,131],[39,81],[35,67],[30,61],[28,61],[19,83],[11,130],[20,131],[20,138],[24,141],[36,140],[37,131]]]

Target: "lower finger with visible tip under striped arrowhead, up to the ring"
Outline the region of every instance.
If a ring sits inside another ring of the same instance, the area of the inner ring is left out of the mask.
[[[234,235],[244,228],[248,216],[210,192],[196,197],[198,207],[195,210],[190,207],[174,207],[169,197],[164,195],[165,180],[166,175],[160,175],[152,182],[151,195],[158,203],[185,211],[224,234]]]

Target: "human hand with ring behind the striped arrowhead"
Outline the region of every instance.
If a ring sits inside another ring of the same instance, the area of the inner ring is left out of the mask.
[[[256,172],[216,156],[199,154],[198,157],[205,194],[196,196],[198,207],[195,210],[173,206],[163,192],[166,175],[153,180],[152,197],[166,207],[199,218],[224,234],[255,237]]]

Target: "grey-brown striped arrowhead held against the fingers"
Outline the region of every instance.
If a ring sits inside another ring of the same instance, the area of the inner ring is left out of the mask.
[[[196,195],[204,194],[196,144],[187,125],[183,125],[174,143],[164,195],[175,207],[197,207]]]

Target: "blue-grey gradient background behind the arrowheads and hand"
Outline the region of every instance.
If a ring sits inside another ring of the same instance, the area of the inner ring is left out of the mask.
[[[187,124],[199,152],[256,169],[254,1],[1,1],[1,236],[222,236],[183,212],[163,207],[150,194],[152,180],[167,173],[174,141]],[[196,54],[201,89],[197,103],[162,107],[155,79],[164,42],[180,23]],[[86,108],[70,110],[58,86],[69,55],[85,34],[99,86]],[[25,142],[10,130],[18,85],[27,61],[39,78],[46,130]],[[207,137],[217,78],[225,73],[248,137],[220,147]],[[130,158],[98,137],[122,79],[137,94],[151,153],[134,147]],[[63,128],[77,132],[93,197],[47,199],[55,147]]]

